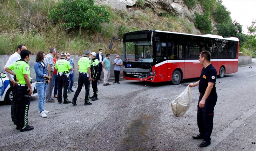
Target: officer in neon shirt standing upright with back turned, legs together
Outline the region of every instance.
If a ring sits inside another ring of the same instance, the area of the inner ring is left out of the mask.
[[[67,54],[62,53],[61,58],[56,61],[55,69],[58,71],[57,80],[58,80],[58,102],[62,103],[62,87],[63,87],[63,104],[71,103],[68,100],[68,86],[69,86],[69,71],[72,70],[69,61],[67,59]]]

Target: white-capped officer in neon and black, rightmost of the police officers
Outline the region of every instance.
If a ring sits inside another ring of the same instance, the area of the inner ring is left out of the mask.
[[[92,77],[93,96],[90,97],[90,99],[92,99],[92,101],[95,101],[98,99],[97,76],[98,76],[99,60],[96,58],[95,52],[92,52],[91,57],[92,57],[91,77]]]

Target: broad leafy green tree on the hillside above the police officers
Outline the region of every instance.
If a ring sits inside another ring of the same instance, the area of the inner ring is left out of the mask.
[[[94,0],[62,0],[60,5],[52,9],[48,15],[50,20],[61,21],[65,29],[86,28],[100,31],[101,23],[109,22],[109,12],[104,6],[94,5]]]

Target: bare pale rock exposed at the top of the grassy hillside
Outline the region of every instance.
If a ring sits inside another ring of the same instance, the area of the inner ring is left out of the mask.
[[[95,0],[97,5],[109,5],[114,9],[127,10],[127,8],[135,6],[137,0]],[[168,13],[184,18],[188,23],[194,17],[194,12],[203,13],[201,5],[196,5],[194,9],[188,9],[184,4],[184,0],[144,0],[145,6],[150,7],[156,14]],[[192,30],[193,34],[202,34],[198,29]]]

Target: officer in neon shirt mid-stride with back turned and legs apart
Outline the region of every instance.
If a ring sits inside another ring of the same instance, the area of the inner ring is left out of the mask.
[[[86,50],[85,56],[83,56],[78,60],[78,71],[79,71],[78,88],[76,89],[74,98],[72,100],[73,105],[77,105],[76,99],[82,90],[83,84],[85,84],[85,104],[84,105],[92,105],[92,103],[90,103],[89,101],[90,81],[92,81],[91,71],[90,71],[91,61],[89,59],[90,53],[91,51],[89,49]]]

